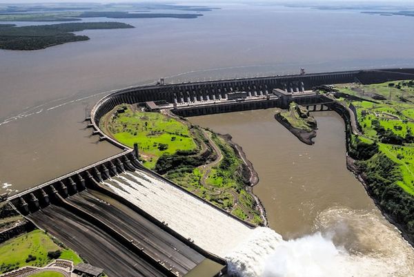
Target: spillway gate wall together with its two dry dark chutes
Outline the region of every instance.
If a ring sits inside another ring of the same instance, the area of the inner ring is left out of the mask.
[[[102,186],[140,168],[132,151],[115,155],[9,198],[48,230],[113,277],[184,276],[208,261],[216,276],[226,262],[201,249],[132,202]]]

